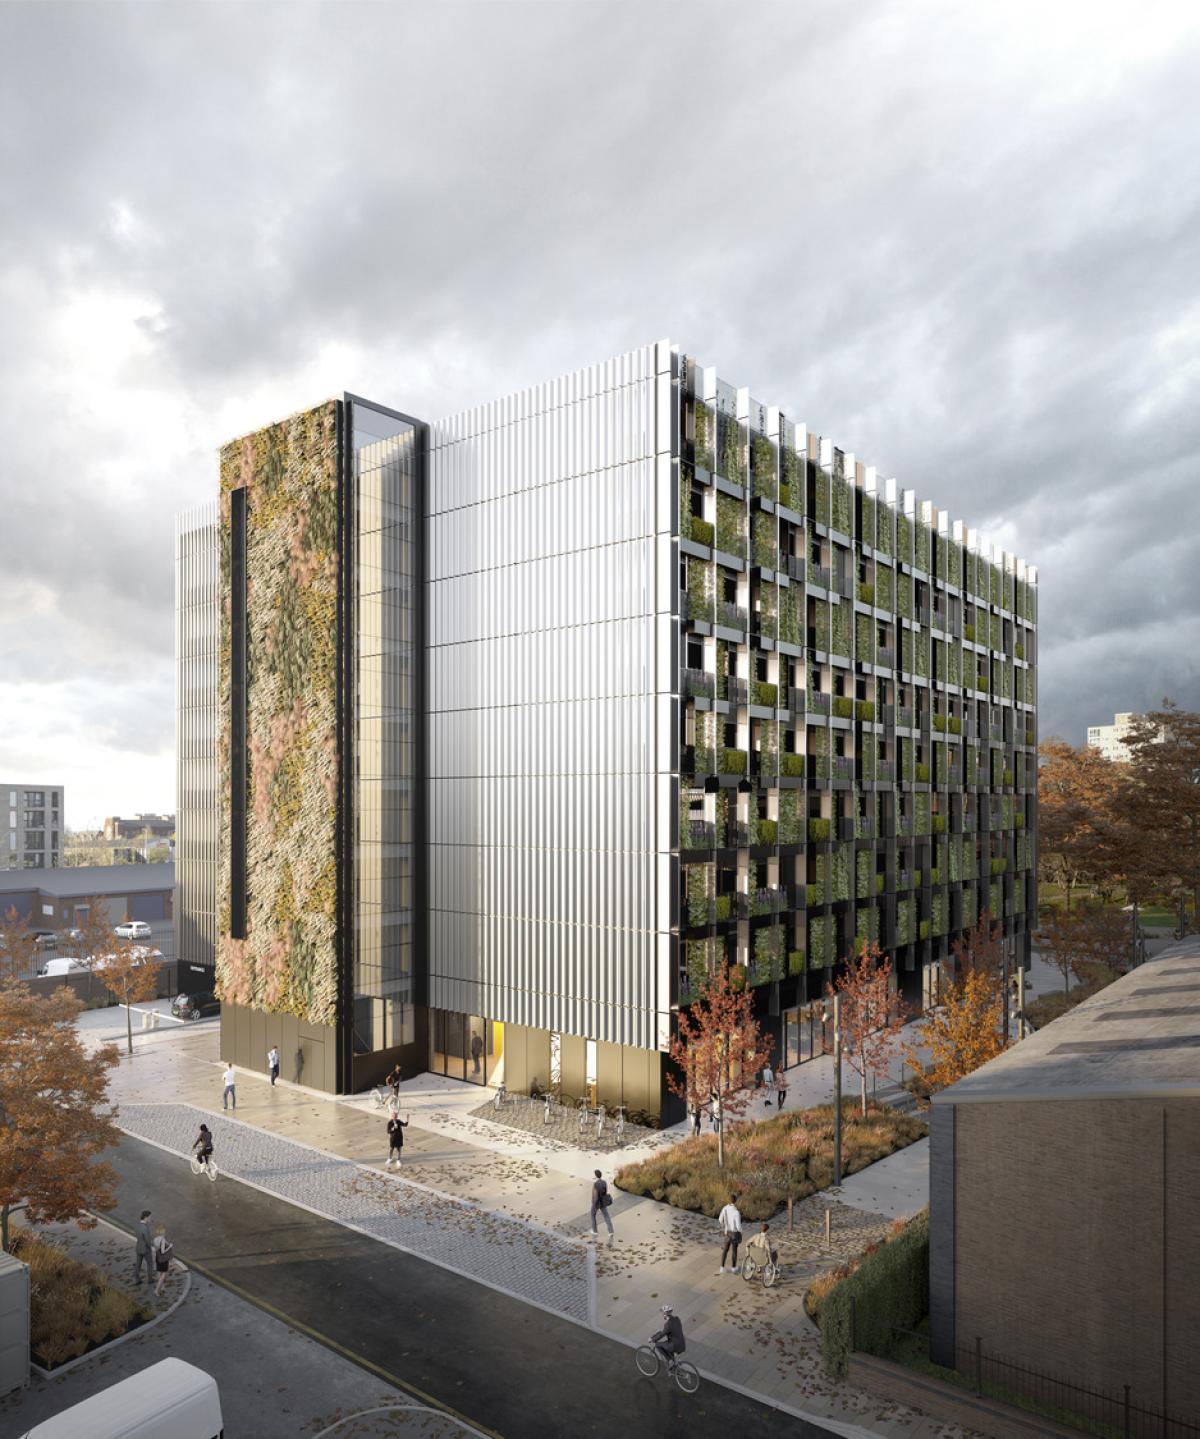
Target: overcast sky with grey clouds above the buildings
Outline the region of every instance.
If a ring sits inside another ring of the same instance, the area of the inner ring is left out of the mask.
[[[341,390],[678,341],[1200,708],[1200,7],[0,4],[0,781],[174,803],[173,517]]]

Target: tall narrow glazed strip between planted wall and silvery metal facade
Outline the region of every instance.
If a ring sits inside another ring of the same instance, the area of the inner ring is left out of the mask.
[[[354,455],[354,1050],[413,1043],[416,429],[350,406]]]

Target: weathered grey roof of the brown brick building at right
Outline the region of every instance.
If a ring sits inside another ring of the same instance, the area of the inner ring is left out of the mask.
[[[1200,1098],[1200,940],[1183,940],[934,1104]]]

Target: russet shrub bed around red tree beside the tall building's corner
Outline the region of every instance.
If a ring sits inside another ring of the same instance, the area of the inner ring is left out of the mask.
[[[925,1124],[908,1114],[858,1104],[842,1108],[842,1170],[856,1174],[876,1160],[925,1137]],[[788,1199],[807,1199],[833,1183],[833,1105],[796,1109],[758,1122],[732,1124],[725,1134],[725,1167],[717,1164],[717,1135],[682,1140],[660,1154],[617,1170],[616,1186],[675,1209],[715,1219],[738,1196],[744,1219],[771,1219]]]

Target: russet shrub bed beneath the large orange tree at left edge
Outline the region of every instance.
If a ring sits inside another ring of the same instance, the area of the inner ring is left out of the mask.
[[[114,1288],[95,1265],[17,1230],[13,1256],[29,1265],[29,1345],[43,1368],[55,1368],[154,1317],[131,1294]]]

